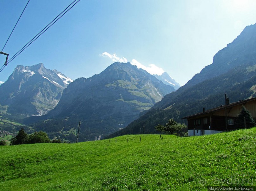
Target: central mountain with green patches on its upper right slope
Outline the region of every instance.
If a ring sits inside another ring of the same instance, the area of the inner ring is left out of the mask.
[[[45,120],[35,127],[56,135],[64,131],[70,134],[74,124],[82,121],[81,139],[92,140],[126,127],[173,91],[145,70],[116,62],[98,75],[76,79],[63,91],[53,110],[26,123]]]

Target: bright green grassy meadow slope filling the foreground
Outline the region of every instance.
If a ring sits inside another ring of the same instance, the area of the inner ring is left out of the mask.
[[[256,128],[251,128],[200,137],[163,135],[163,140],[159,135],[125,135],[117,137],[117,142],[114,138],[0,146],[0,190],[254,186],[255,137]]]

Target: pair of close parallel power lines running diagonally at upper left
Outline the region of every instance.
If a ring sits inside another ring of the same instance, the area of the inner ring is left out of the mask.
[[[76,1],[76,0],[75,0]],[[31,39],[25,46],[22,47],[13,57],[10,58],[9,63],[16,58],[21,52],[23,52],[29,45],[31,45],[38,37],[40,37],[45,31],[47,31],[56,21],[58,21],[63,15],[65,15],[72,7],[75,6],[76,3],[78,3],[80,0],[78,0],[75,4],[73,4],[75,1],[73,1],[66,9],[64,9],[58,16],[55,17],[46,27],[44,27],[33,39]],[[73,4],[73,5],[72,5]],[[72,5],[72,6],[71,6]],[[71,7],[70,7],[71,6]],[[70,8],[69,8],[70,7]],[[69,9],[68,9],[69,8]],[[68,10],[67,10],[68,9]],[[65,11],[65,12],[64,12]],[[64,12],[64,13],[63,13]],[[63,13],[63,14],[62,14]],[[62,14],[62,15],[61,15]],[[61,15],[61,16],[60,16]],[[59,17],[60,16],[60,17]],[[59,17],[59,18],[58,18]],[[57,19],[58,18],[58,19]],[[55,21],[56,20],[56,21]],[[40,34],[41,33],[41,34]],[[2,67],[0,72],[7,66],[7,64]]]

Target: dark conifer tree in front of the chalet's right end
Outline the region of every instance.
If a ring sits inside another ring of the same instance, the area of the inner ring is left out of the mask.
[[[248,111],[245,106],[242,106],[240,114],[237,116],[237,120],[236,120],[236,125],[238,128],[245,127],[244,118],[246,121],[247,128],[256,126],[255,120],[253,119],[250,111]]]

